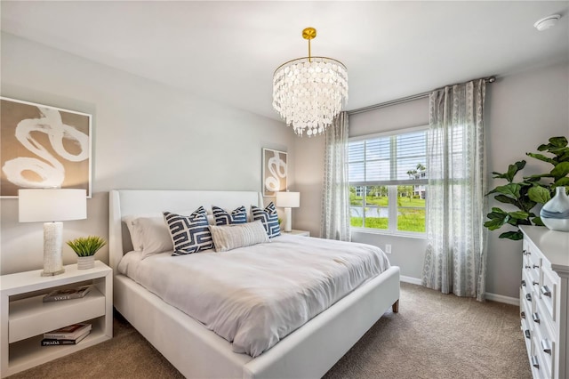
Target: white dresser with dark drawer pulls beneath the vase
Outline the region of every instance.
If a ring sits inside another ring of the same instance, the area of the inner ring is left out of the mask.
[[[520,229],[520,315],[533,378],[569,378],[569,233]]]

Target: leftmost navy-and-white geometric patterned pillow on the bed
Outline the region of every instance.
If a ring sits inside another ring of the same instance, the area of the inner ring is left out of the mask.
[[[189,216],[170,212],[163,214],[174,246],[172,255],[192,254],[213,248],[212,233],[203,206]]]

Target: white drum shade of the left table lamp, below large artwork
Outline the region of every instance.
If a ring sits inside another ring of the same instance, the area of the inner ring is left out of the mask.
[[[85,189],[20,189],[20,222],[61,222],[87,218]]]

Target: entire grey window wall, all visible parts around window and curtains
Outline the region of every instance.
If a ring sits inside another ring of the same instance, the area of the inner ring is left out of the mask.
[[[486,90],[485,139],[488,188],[502,184],[493,181],[492,172],[504,172],[520,159],[528,164],[524,175],[541,173],[547,165],[526,157],[549,137],[569,137],[569,65],[565,62],[512,75],[499,76]],[[429,123],[429,100],[421,99],[376,109],[349,117],[350,136],[379,133]],[[324,144],[304,139],[296,144],[299,166],[296,182],[301,196],[309,198],[295,210],[295,227],[319,235]],[[550,167],[549,167],[550,169]],[[310,193],[306,193],[311,191]],[[489,206],[495,206],[493,198]],[[501,231],[489,233],[486,292],[516,298],[521,268],[521,242],[498,238]],[[401,274],[421,278],[426,241],[370,233],[353,233],[353,240],[381,248],[392,245],[389,259],[401,267]]]

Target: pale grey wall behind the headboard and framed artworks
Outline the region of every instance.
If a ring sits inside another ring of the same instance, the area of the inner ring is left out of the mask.
[[[64,240],[108,238],[109,189],[260,190],[261,148],[293,150],[292,130],[275,120],[16,36],[1,42],[3,96],[93,115],[93,198],[87,220],[64,222]],[[19,223],[16,199],[0,208],[1,273],[41,269],[41,223]],[[76,262],[68,246],[63,256]],[[108,262],[108,248],[96,256]]]

